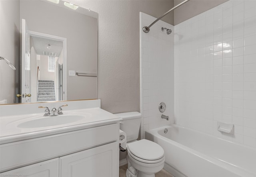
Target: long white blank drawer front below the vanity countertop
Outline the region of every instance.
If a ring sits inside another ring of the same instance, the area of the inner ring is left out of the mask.
[[[0,172],[118,141],[118,124],[110,124],[0,145]]]

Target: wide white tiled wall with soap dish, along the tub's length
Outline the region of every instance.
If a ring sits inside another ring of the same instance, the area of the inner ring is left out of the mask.
[[[174,38],[177,124],[256,148],[256,1],[225,2],[176,25]]]

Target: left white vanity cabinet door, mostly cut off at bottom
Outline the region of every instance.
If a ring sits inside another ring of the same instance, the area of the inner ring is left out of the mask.
[[[58,177],[59,175],[59,158],[35,163],[25,167],[0,173],[0,176],[8,177]]]

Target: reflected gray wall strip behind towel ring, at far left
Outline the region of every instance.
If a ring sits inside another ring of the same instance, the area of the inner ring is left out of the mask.
[[[0,0],[0,56],[8,59],[16,70],[0,61],[0,100],[17,102],[20,94],[20,2]]]

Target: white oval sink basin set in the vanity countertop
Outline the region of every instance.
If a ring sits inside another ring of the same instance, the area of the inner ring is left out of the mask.
[[[83,118],[85,118],[85,116],[80,116],[80,115],[58,115],[58,116],[48,116],[48,117],[42,116],[34,120],[22,122],[21,124],[18,124],[18,127],[19,128],[39,128],[39,127],[57,126],[57,125],[76,122]]]

